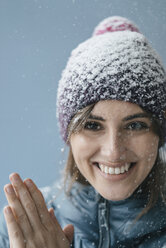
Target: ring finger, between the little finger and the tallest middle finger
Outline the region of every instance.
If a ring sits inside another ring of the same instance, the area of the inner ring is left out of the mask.
[[[27,218],[27,215],[17,198],[15,191],[13,189],[13,186],[11,184],[7,184],[4,186],[4,191],[6,198],[8,200],[9,205],[11,206],[13,210],[13,215],[16,219],[16,221],[19,223],[21,230],[23,230],[23,234],[31,233],[32,228],[29,223],[29,220]]]

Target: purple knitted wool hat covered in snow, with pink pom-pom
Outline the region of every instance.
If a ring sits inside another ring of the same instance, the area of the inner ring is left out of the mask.
[[[102,35],[100,35],[102,34]],[[110,17],[71,53],[59,81],[57,117],[64,141],[72,117],[100,100],[138,104],[165,123],[166,72],[131,21]]]

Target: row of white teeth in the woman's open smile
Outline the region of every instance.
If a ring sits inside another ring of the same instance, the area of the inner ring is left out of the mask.
[[[131,165],[131,163],[125,163],[125,165],[122,165],[121,167],[109,167],[109,166],[105,166],[103,164],[99,164],[99,167],[100,167],[101,171],[106,173],[106,174],[119,175],[119,174],[123,174],[126,171],[128,171],[130,165]]]

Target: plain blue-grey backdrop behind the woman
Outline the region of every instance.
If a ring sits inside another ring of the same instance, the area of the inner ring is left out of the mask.
[[[60,176],[57,83],[70,51],[111,15],[133,20],[166,65],[165,0],[0,0],[0,207],[10,173],[40,187]]]

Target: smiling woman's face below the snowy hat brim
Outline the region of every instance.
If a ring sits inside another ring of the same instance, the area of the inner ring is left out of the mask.
[[[138,105],[117,100],[98,102],[84,128],[71,135],[75,163],[106,199],[128,198],[151,171],[159,137]]]

